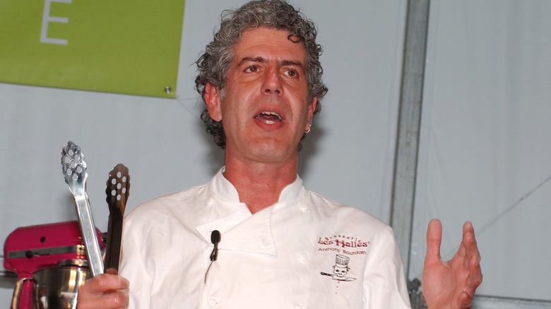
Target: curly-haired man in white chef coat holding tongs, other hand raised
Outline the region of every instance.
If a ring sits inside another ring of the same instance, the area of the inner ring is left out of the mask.
[[[314,24],[283,0],[225,13],[196,78],[225,167],[211,183],[132,210],[122,277],[87,281],[78,308],[410,308],[391,228],[297,176],[300,140],[327,91],[315,39]],[[482,280],[473,227],[446,263],[441,237],[431,222],[427,303],[468,308]]]

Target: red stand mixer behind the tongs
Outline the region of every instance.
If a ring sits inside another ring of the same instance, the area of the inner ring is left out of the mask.
[[[103,249],[102,234],[97,229],[96,234]],[[91,277],[76,221],[25,226],[11,232],[4,243],[4,268],[17,273],[11,308],[20,309],[54,308],[40,303],[48,302],[46,290],[56,289],[53,278],[61,276],[61,272],[82,282]],[[42,277],[45,283],[41,286]],[[76,292],[78,284],[73,289]]]

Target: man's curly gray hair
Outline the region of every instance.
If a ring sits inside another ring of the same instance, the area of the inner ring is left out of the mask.
[[[220,29],[196,61],[199,74],[195,78],[195,87],[203,100],[207,83],[218,87],[223,94],[226,70],[234,56],[233,47],[241,40],[244,30],[257,27],[288,30],[289,40],[304,44],[307,54],[308,102],[317,97],[314,114],[318,114],[321,110],[320,100],[326,94],[327,87],[321,81],[324,70],[319,62],[322,49],[316,44],[316,25],[285,0],[250,1],[237,10],[223,11],[220,16]],[[222,121],[211,119],[207,109],[201,114],[201,119],[206,125],[206,131],[213,135],[216,145],[225,148],[226,138]],[[298,149],[301,147],[299,144]]]

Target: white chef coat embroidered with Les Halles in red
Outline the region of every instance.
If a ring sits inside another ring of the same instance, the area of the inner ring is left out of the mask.
[[[307,190],[298,176],[275,205],[251,214],[222,171],[127,214],[129,308],[410,308],[384,222]],[[213,230],[221,240],[206,277]]]

